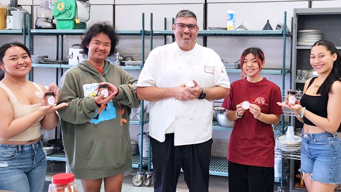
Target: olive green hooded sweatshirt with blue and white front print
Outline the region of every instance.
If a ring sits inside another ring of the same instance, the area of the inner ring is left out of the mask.
[[[97,87],[94,83],[101,82],[117,86],[119,94],[97,114],[99,108],[89,93]],[[58,104],[69,106],[58,112],[67,164],[77,179],[104,178],[132,168],[129,113],[140,104],[136,83],[128,72],[108,61],[103,75],[86,61],[63,75]]]

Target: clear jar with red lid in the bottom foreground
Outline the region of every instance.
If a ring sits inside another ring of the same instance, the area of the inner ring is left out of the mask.
[[[52,176],[52,183],[48,185],[48,192],[78,192],[75,175],[73,173],[59,173]]]

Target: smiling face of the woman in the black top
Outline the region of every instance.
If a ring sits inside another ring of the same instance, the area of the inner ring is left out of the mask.
[[[310,51],[310,65],[318,74],[330,74],[336,53],[331,54],[324,45],[313,46]]]

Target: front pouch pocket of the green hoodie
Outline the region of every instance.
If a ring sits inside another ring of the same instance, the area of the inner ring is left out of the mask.
[[[87,168],[121,167],[129,159],[129,145],[126,137],[93,140],[90,154],[86,158]]]

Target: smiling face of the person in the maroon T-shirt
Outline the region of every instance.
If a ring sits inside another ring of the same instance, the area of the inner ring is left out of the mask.
[[[265,61],[263,60],[259,67],[257,58],[254,54],[249,53],[245,56],[243,60],[243,72],[248,76],[247,78],[249,81],[258,78],[260,70],[264,67],[264,63]]]

